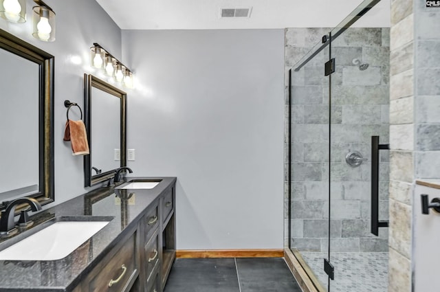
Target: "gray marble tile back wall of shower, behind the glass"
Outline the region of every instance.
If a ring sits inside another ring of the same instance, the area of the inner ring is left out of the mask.
[[[287,29],[286,69],[327,32],[329,29]],[[332,75],[330,166],[329,84],[323,74],[328,51],[292,73],[292,247],[327,250],[330,167],[332,251],[387,251],[387,230],[381,229],[379,237],[369,231],[370,161],[351,168],[345,155],[358,150],[370,157],[371,135],[388,142],[389,29],[350,29],[332,49],[337,70]],[[353,65],[355,58],[369,63],[369,68],[360,71]],[[382,153],[380,159],[380,217],[386,219],[388,153]]]

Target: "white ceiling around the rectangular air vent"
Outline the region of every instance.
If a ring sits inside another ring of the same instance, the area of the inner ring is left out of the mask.
[[[216,30],[335,27],[362,0],[96,0],[122,30]],[[250,17],[221,18],[222,8],[251,8]],[[389,27],[382,0],[358,27]]]

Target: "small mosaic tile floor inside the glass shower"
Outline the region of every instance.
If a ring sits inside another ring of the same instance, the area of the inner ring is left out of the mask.
[[[327,253],[301,252],[307,265],[327,289],[324,260]],[[331,292],[386,292],[388,291],[387,252],[333,252],[331,263],[335,267],[335,280],[330,282]]]

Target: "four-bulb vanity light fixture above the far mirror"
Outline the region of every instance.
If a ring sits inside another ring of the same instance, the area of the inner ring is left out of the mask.
[[[133,72],[98,43],[94,43],[90,48],[90,60],[91,67],[102,69],[105,75],[133,88]]]

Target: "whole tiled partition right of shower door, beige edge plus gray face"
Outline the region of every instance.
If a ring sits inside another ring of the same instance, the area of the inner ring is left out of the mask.
[[[424,1],[391,1],[390,292],[412,291],[414,180],[440,177],[439,18]]]

